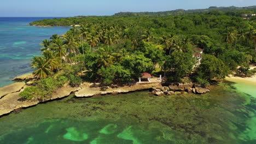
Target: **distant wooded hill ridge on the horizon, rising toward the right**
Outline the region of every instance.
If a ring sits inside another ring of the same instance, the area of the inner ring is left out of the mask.
[[[256,5],[249,7],[210,7],[208,9],[177,9],[170,11],[159,11],[159,12],[120,12],[114,14],[113,16],[169,16],[169,15],[181,15],[181,14],[202,14],[202,13],[216,13],[216,15],[232,15],[232,16],[241,16],[241,14],[245,13],[256,13]]]

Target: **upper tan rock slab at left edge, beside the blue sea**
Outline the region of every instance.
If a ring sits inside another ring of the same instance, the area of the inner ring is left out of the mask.
[[[0,88],[0,99],[7,94],[19,92],[22,87],[25,86],[25,82],[15,82],[9,86]]]

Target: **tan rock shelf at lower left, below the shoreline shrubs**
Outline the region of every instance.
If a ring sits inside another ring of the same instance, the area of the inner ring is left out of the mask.
[[[19,97],[20,92],[9,93],[5,95],[2,99],[0,99],[0,116],[10,113],[16,109],[20,109],[23,107],[30,107],[33,105],[37,105],[44,101],[49,101],[57,98],[63,98],[70,95],[72,92],[78,91],[80,88],[73,88],[70,86],[62,87],[58,89],[51,97],[44,98],[42,100],[33,99],[33,100],[26,100]]]

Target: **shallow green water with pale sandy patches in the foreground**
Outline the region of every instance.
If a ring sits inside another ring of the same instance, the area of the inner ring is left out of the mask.
[[[255,93],[236,86],[51,101],[0,118],[0,143],[256,143]]]

